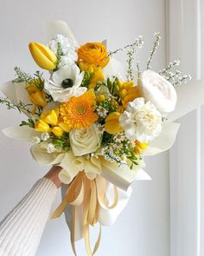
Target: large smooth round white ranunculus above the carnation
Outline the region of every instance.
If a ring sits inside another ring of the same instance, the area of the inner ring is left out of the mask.
[[[139,77],[138,88],[143,98],[152,102],[160,112],[169,113],[175,109],[177,95],[174,86],[156,72],[144,71]]]

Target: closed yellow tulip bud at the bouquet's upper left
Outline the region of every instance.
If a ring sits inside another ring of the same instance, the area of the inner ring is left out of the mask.
[[[53,70],[56,68],[57,57],[47,46],[42,43],[29,43],[29,50],[41,69]]]

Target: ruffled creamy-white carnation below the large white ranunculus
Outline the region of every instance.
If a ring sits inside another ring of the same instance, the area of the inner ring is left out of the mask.
[[[152,102],[145,103],[141,97],[128,103],[119,123],[129,140],[148,142],[160,134],[162,115]]]

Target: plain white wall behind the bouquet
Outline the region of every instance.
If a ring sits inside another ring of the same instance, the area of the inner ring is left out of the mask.
[[[165,66],[165,0],[1,0],[0,83],[13,78],[15,65],[26,71],[36,69],[29,56],[28,43],[43,42],[41,21],[53,19],[67,21],[80,43],[108,38],[110,49],[117,49],[132,42],[137,35],[143,35],[142,62],[146,62],[149,55],[152,34],[161,31],[163,43],[154,67]],[[22,116],[17,112],[0,109],[0,128],[20,123]],[[0,141],[1,220],[48,168],[41,168],[32,160],[29,145],[12,141],[2,134]],[[152,181],[133,185],[130,203],[117,223],[103,229],[97,255],[169,256],[168,154],[146,162]],[[85,255],[83,242],[77,246],[79,254]],[[62,217],[48,222],[37,255],[71,255],[70,247],[69,232]]]

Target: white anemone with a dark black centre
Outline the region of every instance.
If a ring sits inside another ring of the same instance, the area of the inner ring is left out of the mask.
[[[70,97],[79,97],[86,92],[86,87],[80,87],[84,72],[80,73],[77,65],[63,67],[53,73],[45,81],[45,89],[52,95],[54,102],[67,102]]]

